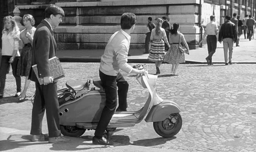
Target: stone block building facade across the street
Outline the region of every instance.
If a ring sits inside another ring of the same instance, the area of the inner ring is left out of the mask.
[[[7,0],[1,1],[1,8],[15,5],[20,16],[30,13],[38,25],[48,4],[61,6],[65,11],[63,22],[55,29],[59,50],[104,49],[110,36],[120,28],[124,12],[137,15],[130,48],[144,48],[148,17],[166,16],[171,25],[179,23],[180,31],[194,49],[202,38],[201,25],[209,22],[210,15],[217,17],[218,24],[234,12],[241,18],[246,14],[255,16],[255,0]],[[11,13],[1,9],[1,14],[2,21],[4,15]]]

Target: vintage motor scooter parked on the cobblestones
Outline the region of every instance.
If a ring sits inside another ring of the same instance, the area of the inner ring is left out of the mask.
[[[148,69],[147,65],[137,65],[138,69]],[[117,127],[132,127],[140,123],[144,117],[146,122],[153,122],[154,130],[162,137],[176,135],[182,126],[179,114],[181,108],[173,101],[163,100],[156,93],[157,75],[146,72],[137,75],[136,79],[143,88],[149,91],[149,97],[144,107],[133,112],[115,112],[107,126],[105,136]],[[60,104],[60,131],[65,136],[79,137],[87,130],[96,129],[101,112],[105,106],[105,91],[101,81],[93,81],[95,87],[90,86],[90,80],[81,82],[70,79],[65,89],[58,91]]]

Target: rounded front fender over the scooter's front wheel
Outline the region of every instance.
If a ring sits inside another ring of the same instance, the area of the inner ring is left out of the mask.
[[[146,122],[157,122],[165,120],[170,114],[181,112],[181,108],[173,101],[164,100],[158,105],[154,105],[148,115]]]

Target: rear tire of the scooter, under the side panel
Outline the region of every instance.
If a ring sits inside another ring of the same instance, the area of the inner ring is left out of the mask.
[[[70,136],[70,137],[80,137],[82,134],[84,134],[85,129],[80,129],[76,126],[63,126],[60,125],[60,132],[64,136]]]

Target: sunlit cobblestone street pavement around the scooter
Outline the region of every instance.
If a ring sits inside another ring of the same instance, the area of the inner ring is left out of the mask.
[[[63,63],[66,77],[58,82],[65,87],[69,78],[86,81],[98,79],[98,63]],[[149,73],[155,73],[154,64]],[[171,65],[160,67],[158,94],[180,105],[183,125],[172,138],[158,136],[152,123],[142,121],[134,127],[124,127],[113,132],[111,139],[122,145],[154,147],[161,150],[184,151],[256,151],[256,64],[181,64],[178,76],[170,75]],[[11,72],[10,72],[11,73]],[[148,92],[135,80],[135,75],[125,75],[129,82],[128,110],[143,107]],[[22,79],[22,85],[24,80]],[[28,96],[34,92],[31,83]],[[16,103],[14,77],[7,75],[5,95],[0,101],[0,127],[30,130],[30,101]],[[27,97],[26,99],[29,99]],[[44,118],[43,131],[47,132]],[[94,131],[82,136],[90,140]]]

